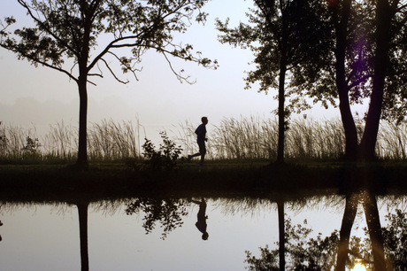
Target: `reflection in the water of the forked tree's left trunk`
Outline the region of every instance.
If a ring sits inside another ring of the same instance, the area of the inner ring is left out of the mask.
[[[336,257],[336,271],[344,271],[348,259],[350,231],[357,215],[358,195],[346,196],[345,212],[343,213],[338,254]]]

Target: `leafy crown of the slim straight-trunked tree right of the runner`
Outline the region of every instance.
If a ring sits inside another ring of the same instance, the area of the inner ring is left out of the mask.
[[[254,2],[256,8],[247,14],[249,23],[229,28],[228,19],[225,22],[217,20],[217,28],[223,33],[219,36],[220,43],[253,51],[256,69],[248,72],[246,89],[258,82],[259,92],[278,89],[280,59],[286,58],[289,81],[285,96],[292,100],[287,113],[308,108],[293,88],[298,90],[303,86],[308,89],[306,81],[301,80],[303,65],[315,64],[326,50],[326,44],[320,43],[320,36],[326,35],[327,31],[321,20],[322,12],[326,11],[320,1]],[[310,70],[307,72],[311,73]]]

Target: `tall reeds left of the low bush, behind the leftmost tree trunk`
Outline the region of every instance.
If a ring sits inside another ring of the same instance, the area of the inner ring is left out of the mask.
[[[103,120],[88,128],[88,159],[111,161],[140,157],[140,122]],[[33,147],[30,141],[38,144]],[[0,122],[0,162],[73,161],[78,151],[78,128],[64,121],[38,136],[35,128]]]

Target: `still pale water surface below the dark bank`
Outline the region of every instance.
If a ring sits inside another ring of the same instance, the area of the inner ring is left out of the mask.
[[[405,210],[403,197],[379,197],[377,205],[381,226]],[[329,236],[341,228],[344,207],[344,197],[312,197],[286,202],[284,213],[310,236]],[[246,251],[258,257],[259,247],[278,249],[279,241],[277,205],[258,198],[2,202],[0,221],[0,270],[12,271],[81,270],[81,252],[90,270],[245,270]],[[351,235],[366,237],[365,226],[359,207]]]

